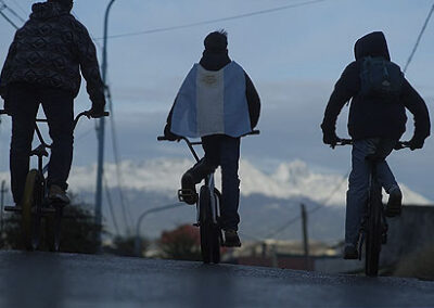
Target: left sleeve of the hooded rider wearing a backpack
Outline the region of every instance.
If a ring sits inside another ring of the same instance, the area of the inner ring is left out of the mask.
[[[342,73],[327,104],[324,118],[321,124],[323,133],[335,132],[336,119],[342,107],[358,93],[359,88],[359,65],[357,62],[353,62]]]

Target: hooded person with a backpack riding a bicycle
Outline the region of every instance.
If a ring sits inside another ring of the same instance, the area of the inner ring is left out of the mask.
[[[356,61],[337,80],[321,125],[323,142],[334,146],[336,118],[352,100],[348,132],[353,138],[352,174],[346,201],[344,258],[358,257],[359,229],[368,198],[369,164],[375,154],[386,158],[406,130],[406,108],[414,116],[411,150],[422,149],[430,136],[430,117],[423,99],[410,86],[400,68],[391,62],[386,39],[381,31],[360,38],[355,44]],[[385,159],[378,164],[379,181],[387,192],[385,214],[400,215],[403,194]]]

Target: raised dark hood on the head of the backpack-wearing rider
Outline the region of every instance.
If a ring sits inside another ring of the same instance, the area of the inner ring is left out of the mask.
[[[371,33],[359,38],[354,46],[354,54],[356,61],[365,56],[382,56],[385,60],[391,61],[387,41],[382,31]]]

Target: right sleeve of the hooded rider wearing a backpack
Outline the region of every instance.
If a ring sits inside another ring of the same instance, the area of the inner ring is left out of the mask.
[[[407,79],[404,80],[401,102],[410,111],[414,118],[414,139],[424,140],[430,136],[431,123],[430,114],[425,102],[419,93],[411,87]]]

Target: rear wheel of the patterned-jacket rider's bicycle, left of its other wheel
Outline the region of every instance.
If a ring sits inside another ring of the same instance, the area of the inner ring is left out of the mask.
[[[23,241],[27,251],[36,249],[39,246],[42,206],[41,190],[39,171],[33,169],[27,175],[22,201]]]

